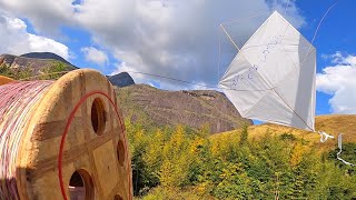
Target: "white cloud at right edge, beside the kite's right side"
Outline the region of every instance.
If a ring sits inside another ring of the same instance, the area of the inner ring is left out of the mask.
[[[336,52],[328,58],[335,66],[317,73],[317,90],[333,96],[333,112],[356,113],[356,56]]]

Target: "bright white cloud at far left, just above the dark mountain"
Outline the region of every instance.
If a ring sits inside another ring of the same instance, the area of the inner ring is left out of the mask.
[[[27,32],[26,23],[0,12],[0,53],[22,54],[33,51],[55,52],[69,58],[68,47],[52,39]]]

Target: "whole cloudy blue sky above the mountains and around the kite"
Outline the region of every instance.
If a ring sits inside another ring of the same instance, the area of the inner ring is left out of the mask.
[[[0,29],[4,30],[0,30],[0,53],[53,51],[77,67],[105,74],[142,71],[214,86],[221,76],[217,69],[219,23],[274,9],[283,12],[288,4],[287,19],[310,41],[322,16],[334,2],[58,0],[55,4],[46,0],[0,0]],[[317,114],[356,113],[355,19],[356,2],[339,0],[314,42]],[[28,43],[11,43],[19,38]],[[224,67],[219,70],[224,71]],[[138,82],[164,89],[199,88],[132,76]]]

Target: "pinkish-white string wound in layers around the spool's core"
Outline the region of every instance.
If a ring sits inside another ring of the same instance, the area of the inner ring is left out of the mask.
[[[0,194],[6,199],[19,199],[16,183],[19,144],[31,110],[51,83],[27,81],[0,86]]]

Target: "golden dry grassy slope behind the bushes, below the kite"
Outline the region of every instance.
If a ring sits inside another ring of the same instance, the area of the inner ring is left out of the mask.
[[[295,129],[285,126],[265,123],[259,126],[250,126],[248,133],[250,138],[258,139],[261,134],[269,132],[271,134],[291,133],[298,138],[303,138],[308,141],[309,147],[317,148],[318,150],[332,150],[337,146],[338,133],[343,134],[343,143],[356,142],[356,114],[330,114],[316,117],[316,130],[322,130],[335,137],[335,139],[328,139],[325,143],[322,143],[320,136],[315,132]],[[240,130],[234,130],[224,132],[220,134],[230,134]],[[215,134],[214,137],[219,137]]]

